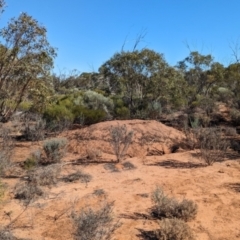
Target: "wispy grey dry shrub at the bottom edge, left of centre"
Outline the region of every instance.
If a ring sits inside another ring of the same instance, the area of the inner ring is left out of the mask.
[[[112,217],[113,202],[105,203],[100,209],[82,209],[79,214],[72,213],[76,240],[107,240],[119,227]]]

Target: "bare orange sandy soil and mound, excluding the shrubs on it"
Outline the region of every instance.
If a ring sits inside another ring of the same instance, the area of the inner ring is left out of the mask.
[[[112,171],[107,162],[116,160],[109,143],[111,126],[125,124],[134,131],[134,139],[126,159],[116,164]],[[197,151],[173,146],[184,135],[156,121],[112,121],[88,128],[66,131],[59,137],[69,141],[66,164],[61,175],[82,170],[92,176],[89,183],[60,181],[45,198],[33,202],[26,211],[12,190],[18,178],[4,179],[9,193],[1,205],[1,225],[7,225],[21,212],[13,224],[13,233],[19,238],[37,240],[73,239],[71,211],[82,207],[97,207],[104,201],[114,201],[114,217],[121,227],[115,239],[144,239],[142,231],[158,228],[157,221],[149,215],[153,205],[151,193],[156,186],[179,200],[193,200],[198,205],[196,219],[188,222],[199,240],[240,239],[240,156],[231,154],[229,159],[206,167]],[[14,161],[21,162],[41,143],[19,142]],[[89,154],[91,154],[89,158]],[[95,155],[97,156],[95,156]],[[135,168],[128,169],[124,162]],[[72,163],[72,164],[70,164]],[[88,164],[87,164],[88,163]],[[103,189],[104,196],[94,191]]]

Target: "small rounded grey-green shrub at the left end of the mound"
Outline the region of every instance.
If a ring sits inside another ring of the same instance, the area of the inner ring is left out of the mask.
[[[60,163],[66,151],[67,140],[65,138],[52,138],[43,143],[45,158],[40,164]]]

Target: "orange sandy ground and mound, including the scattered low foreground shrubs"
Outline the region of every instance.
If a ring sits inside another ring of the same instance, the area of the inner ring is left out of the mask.
[[[119,124],[134,137],[118,162],[110,130]],[[46,157],[42,146],[50,139],[16,142],[15,174],[2,178],[0,218],[6,234],[10,231],[18,239],[83,239],[85,220],[95,216],[112,227],[94,222],[93,239],[240,238],[238,152],[229,148],[226,157],[212,165],[198,149],[189,151],[179,144],[171,152],[176,142],[184,141],[184,134],[157,121],[103,122],[57,138],[67,141],[63,160],[29,168],[24,161],[39,149]],[[94,158],[88,157],[92,146],[101,152]],[[164,193],[158,196],[167,203],[153,200],[157,186]]]

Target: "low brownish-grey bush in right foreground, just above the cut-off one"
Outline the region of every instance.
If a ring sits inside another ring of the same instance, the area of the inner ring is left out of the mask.
[[[178,202],[175,198],[170,198],[160,187],[152,193],[152,215],[157,218],[180,218],[184,221],[194,219],[197,214],[197,205],[191,200]]]

